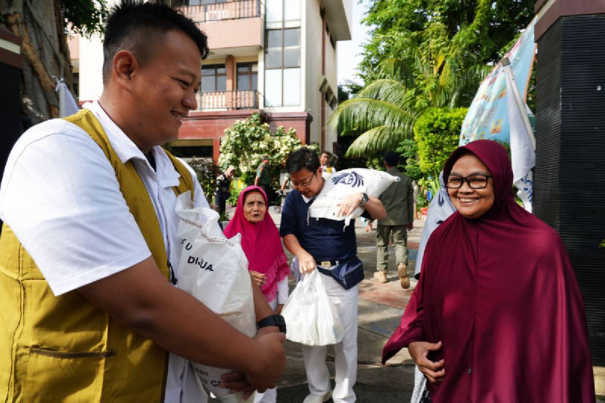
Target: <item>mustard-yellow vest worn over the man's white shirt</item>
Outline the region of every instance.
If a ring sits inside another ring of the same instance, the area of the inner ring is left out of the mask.
[[[131,161],[122,164],[92,112],[82,109],[66,120],[87,132],[114,167],[126,204],[168,279],[160,224]],[[191,173],[168,155],[181,175],[175,193],[191,190],[193,194]],[[0,237],[0,401],[160,402],[167,367],[166,350],[111,318],[77,290],[55,297],[36,263],[4,224]]]

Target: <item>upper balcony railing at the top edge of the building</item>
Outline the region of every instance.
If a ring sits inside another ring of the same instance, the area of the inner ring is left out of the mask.
[[[254,18],[261,16],[260,0],[239,0],[215,4],[180,6],[183,13],[195,22],[221,21],[224,19]]]

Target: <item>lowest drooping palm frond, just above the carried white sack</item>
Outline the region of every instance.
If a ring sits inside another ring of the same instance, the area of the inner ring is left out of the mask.
[[[397,147],[402,140],[413,137],[411,129],[402,130],[399,127],[378,126],[360,135],[348,147],[345,156],[361,157],[386,152]]]

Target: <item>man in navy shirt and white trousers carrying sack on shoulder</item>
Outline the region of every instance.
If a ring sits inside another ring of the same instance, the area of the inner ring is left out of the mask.
[[[325,183],[319,158],[313,150],[303,147],[290,154],[286,169],[294,189],[284,202],[280,235],[286,248],[298,260],[301,273],[320,269],[325,291],[336,306],[344,327],[342,341],[334,345],[334,393],[330,390],[330,374],[325,365],[326,346],[301,346],[309,382],[309,395],[304,403],[322,403],[330,399],[330,395],[335,403],[352,403],[355,402],[353,385],[357,376],[358,285],[345,289],[324,271],[358,259],[355,225],[347,225],[343,230],[342,221],[309,219],[309,207]],[[381,201],[365,193],[353,193],[343,198],[337,215],[347,216],[360,206],[365,209],[363,216],[366,218],[387,215]]]

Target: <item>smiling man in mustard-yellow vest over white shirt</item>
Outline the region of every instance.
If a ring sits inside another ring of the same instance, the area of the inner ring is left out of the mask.
[[[284,326],[255,283],[255,338],[174,286],[176,196],[208,202],[160,145],[197,108],[206,36],[165,5],[122,1],[103,54],[100,99],[25,132],[4,171],[2,401],[205,402],[189,361],[234,369],[227,388],[275,387]]]

